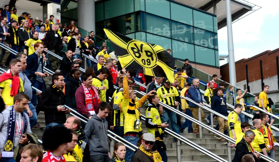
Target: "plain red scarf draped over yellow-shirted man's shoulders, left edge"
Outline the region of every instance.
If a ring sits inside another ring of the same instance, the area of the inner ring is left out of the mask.
[[[15,76],[12,76],[12,72],[4,72],[2,75],[0,75],[0,82],[5,81],[7,79],[12,79],[12,87],[11,87],[11,93],[10,96],[17,95],[17,92],[19,90],[19,77],[18,74]]]

